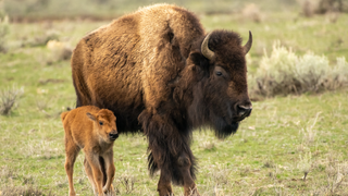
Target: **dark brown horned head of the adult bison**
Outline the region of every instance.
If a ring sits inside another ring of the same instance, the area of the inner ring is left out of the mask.
[[[216,136],[224,137],[235,133],[239,122],[250,115],[245,56],[251,44],[250,32],[249,40],[241,46],[238,34],[214,30],[201,41],[199,52],[190,53],[196,86],[188,115],[194,126],[209,125]]]

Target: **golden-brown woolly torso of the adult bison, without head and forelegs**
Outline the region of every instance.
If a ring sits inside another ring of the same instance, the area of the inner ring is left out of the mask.
[[[173,101],[171,84],[203,34],[192,13],[169,4],[140,9],[91,32],[72,57],[76,107],[108,108],[120,132],[139,130],[141,111]]]

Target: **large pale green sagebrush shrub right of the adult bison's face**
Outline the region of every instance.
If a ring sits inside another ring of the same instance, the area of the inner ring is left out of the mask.
[[[312,52],[299,57],[275,42],[271,56],[264,54],[250,79],[251,94],[266,97],[333,90],[347,86],[348,63],[343,57],[331,65],[326,57]]]

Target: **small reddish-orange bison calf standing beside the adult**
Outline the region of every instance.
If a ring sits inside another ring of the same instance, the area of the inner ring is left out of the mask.
[[[115,167],[112,145],[119,137],[116,118],[112,111],[85,106],[61,114],[65,130],[65,171],[69,195],[74,196],[74,162],[79,150],[85,151],[85,170],[95,194],[111,192]],[[102,187],[103,186],[103,187]]]

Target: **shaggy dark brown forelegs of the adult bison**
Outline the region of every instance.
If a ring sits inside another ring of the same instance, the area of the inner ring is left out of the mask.
[[[152,174],[161,171],[158,192],[160,196],[172,195],[171,183],[184,185],[185,196],[198,195],[195,180],[195,158],[189,148],[188,131],[181,131],[167,115],[144,112],[139,115],[149,140],[149,169]]]

